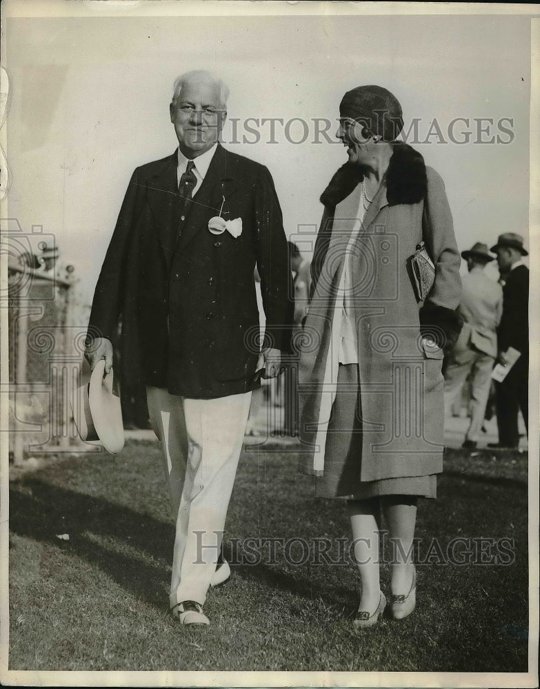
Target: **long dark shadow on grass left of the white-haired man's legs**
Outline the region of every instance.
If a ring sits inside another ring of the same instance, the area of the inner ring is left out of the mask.
[[[163,608],[172,524],[27,477],[10,486],[10,531],[85,559],[140,599]],[[57,534],[63,533],[69,534],[68,542],[59,541]]]

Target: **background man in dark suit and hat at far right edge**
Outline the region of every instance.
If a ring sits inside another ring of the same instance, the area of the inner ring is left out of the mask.
[[[514,232],[501,234],[491,251],[497,254],[499,271],[504,276],[503,316],[497,331],[498,360],[503,365],[508,364],[508,347],[517,349],[521,356],[506,378],[495,383],[499,442],[488,446],[496,449],[517,448],[519,409],[527,431],[529,427],[529,269],[523,263],[523,256],[528,256],[528,252],[523,249],[523,237]]]

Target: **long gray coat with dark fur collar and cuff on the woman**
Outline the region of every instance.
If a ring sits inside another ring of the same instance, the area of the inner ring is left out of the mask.
[[[352,222],[343,218],[355,217],[360,180],[346,164],[321,196],[326,207],[312,263],[312,302],[299,367],[303,471],[315,475],[323,473],[328,422],[321,418],[323,395],[335,387],[328,384],[326,364],[328,356],[337,362],[337,352],[331,353],[332,320],[352,229]],[[424,304],[414,296],[407,265],[422,239],[436,266]],[[441,177],[410,146],[395,144],[353,247],[363,481],[442,471],[441,365],[443,347],[454,342],[461,328],[454,311],[461,296],[459,265]]]

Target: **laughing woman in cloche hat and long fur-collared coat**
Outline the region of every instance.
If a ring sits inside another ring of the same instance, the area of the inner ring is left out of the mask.
[[[443,453],[443,347],[459,335],[460,257],[443,182],[395,141],[401,105],[360,86],[339,106],[348,162],[321,196],[299,383],[305,470],[317,495],[348,501],[361,579],[355,626],[386,606],[379,582],[381,513],[390,542],[390,613],[414,610],[417,498],[436,497]],[[421,242],[434,282],[419,301],[410,257]]]

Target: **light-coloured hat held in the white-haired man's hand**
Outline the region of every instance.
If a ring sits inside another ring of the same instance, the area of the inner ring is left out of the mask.
[[[97,362],[90,382],[75,391],[71,401],[73,420],[81,440],[100,440],[111,454],[124,443],[120,396],[110,369],[105,375],[105,360]]]

